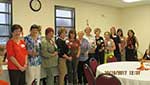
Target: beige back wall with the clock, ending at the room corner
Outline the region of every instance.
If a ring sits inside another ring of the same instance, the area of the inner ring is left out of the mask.
[[[76,12],[76,29],[83,30],[86,20],[89,20],[92,28],[100,27],[106,31],[111,26],[120,25],[120,11],[118,8],[89,4],[78,0],[40,0],[42,9],[33,12],[29,8],[30,0],[13,0],[13,23],[19,23],[24,27],[24,34],[29,33],[29,28],[36,23],[43,27],[54,27],[54,5],[74,7]],[[43,33],[44,34],[44,33]]]

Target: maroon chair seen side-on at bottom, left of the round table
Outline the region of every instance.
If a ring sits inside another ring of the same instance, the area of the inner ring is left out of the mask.
[[[95,85],[95,78],[91,68],[87,64],[84,64],[83,68],[85,77],[88,81],[88,85]]]

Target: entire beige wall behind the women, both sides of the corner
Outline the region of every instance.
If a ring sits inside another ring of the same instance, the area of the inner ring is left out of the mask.
[[[54,5],[61,5],[75,8],[77,31],[86,27],[88,19],[92,28],[102,29],[102,35],[111,26],[122,27],[125,35],[128,29],[134,29],[140,42],[141,52],[144,52],[150,42],[150,33],[148,33],[150,6],[118,9],[78,0],[40,0],[42,9],[39,12],[33,12],[29,8],[29,1],[13,0],[13,23],[21,24],[25,35],[29,34],[29,28],[34,23],[42,26],[42,32],[48,26],[54,27]]]

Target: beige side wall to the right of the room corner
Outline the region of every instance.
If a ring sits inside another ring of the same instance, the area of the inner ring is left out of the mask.
[[[134,29],[138,41],[139,50],[144,53],[150,43],[150,6],[138,6],[125,8],[121,10],[121,26],[128,29]]]

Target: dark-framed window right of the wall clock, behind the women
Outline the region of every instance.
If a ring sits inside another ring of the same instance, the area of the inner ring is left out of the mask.
[[[60,27],[67,31],[75,28],[75,9],[70,7],[55,6],[55,33]]]

